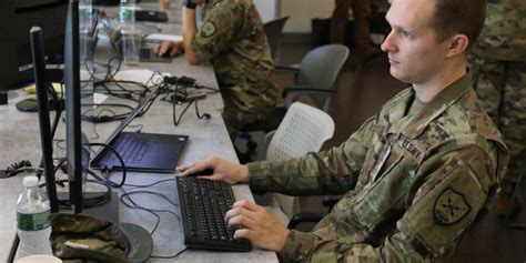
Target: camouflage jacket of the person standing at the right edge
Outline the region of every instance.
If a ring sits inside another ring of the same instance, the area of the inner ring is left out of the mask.
[[[526,1],[487,1],[486,21],[473,52],[505,61],[526,61]]]

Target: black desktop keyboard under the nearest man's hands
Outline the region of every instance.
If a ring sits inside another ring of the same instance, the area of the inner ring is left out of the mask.
[[[250,251],[247,240],[234,239],[224,215],[235,199],[230,184],[221,181],[178,176],[179,209],[184,244],[193,249]]]

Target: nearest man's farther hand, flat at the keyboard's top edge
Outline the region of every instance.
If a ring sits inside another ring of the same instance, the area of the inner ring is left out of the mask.
[[[249,182],[249,168],[226,161],[216,156],[212,156],[195,163],[178,166],[178,171],[183,176],[199,174],[206,169],[213,170],[212,175],[202,176],[210,180],[220,180],[227,183]]]

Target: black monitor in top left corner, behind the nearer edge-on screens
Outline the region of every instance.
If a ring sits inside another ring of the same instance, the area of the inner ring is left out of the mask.
[[[33,81],[28,32],[33,26],[44,33],[48,61],[61,62],[68,0],[0,1],[0,91]]]

